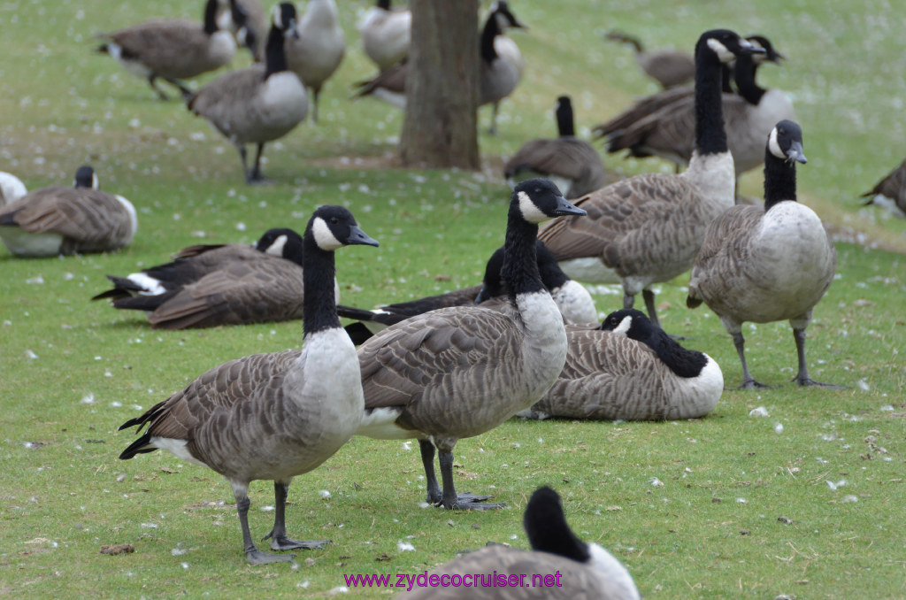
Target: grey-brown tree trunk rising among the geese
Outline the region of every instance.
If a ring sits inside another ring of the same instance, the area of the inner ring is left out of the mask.
[[[411,0],[404,165],[477,169],[478,2]]]

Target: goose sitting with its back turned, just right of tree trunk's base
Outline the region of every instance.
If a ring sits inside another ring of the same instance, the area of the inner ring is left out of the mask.
[[[607,183],[604,163],[592,144],[575,137],[573,103],[569,96],[557,98],[554,116],[560,136],[554,140],[530,140],[506,161],[504,177],[513,179],[521,173],[537,173],[554,180],[565,197],[579,198]]]

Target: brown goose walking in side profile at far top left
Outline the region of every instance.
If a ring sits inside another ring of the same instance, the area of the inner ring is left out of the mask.
[[[207,0],[201,27],[194,21],[158,19],[98,34],[107,42],[97,51],[110,54],[127,71],[147,79],[161,100],[167,100],[167,94],[158,87],[158,78],[188,95],[191,91],[178,80],[219,69],[236,53],[233,36],[217,25],[219,5],[222,0]]]

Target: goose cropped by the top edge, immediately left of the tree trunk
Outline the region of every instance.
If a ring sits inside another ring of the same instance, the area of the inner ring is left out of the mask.
[[[362,48],[381,73],[409,55],[412,13],[390,10],[390,0],[377,0],[356,27],[361,34]]]

